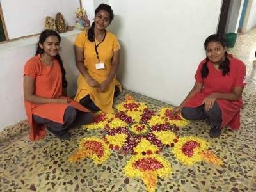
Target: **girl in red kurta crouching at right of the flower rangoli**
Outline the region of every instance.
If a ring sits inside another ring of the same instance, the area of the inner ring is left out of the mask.
[[[225,125],[232,129],[240,127],[246,67],[242,61],[227,54],[225,38],[220,34],[209,36],[204,47],[207,58],[196,71],[195,85],[173,113],[181,111],[189,120],[205,119],[211,125],[209,135],[216,138]]]

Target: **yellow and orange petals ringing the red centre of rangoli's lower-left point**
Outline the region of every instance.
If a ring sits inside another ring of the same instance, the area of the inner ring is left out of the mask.
[[[86,141],[95,141],[98,143],[101,143],[102,148],[99,148],[99,150],[103,151],[103,156],[98,157],[97,153],[90,148],[84,148],[83,144],[86,143]],[[96,164],[101,164],[104,161],[106,161],[110,156],[110,150],[108,145],[104,143],[103,140],[100,140],[99,138],[96,137],[90,137],[90,138],[83,138],[82,140],[79,141],[79,150],[73,154],[72,156],[69,157],[69,161],[76,162],[79,161],[80,159],[85,159],[85,158],[90,158],[93,160],[94,163]]]

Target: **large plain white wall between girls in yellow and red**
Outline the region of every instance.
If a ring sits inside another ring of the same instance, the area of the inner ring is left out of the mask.
[[[110,0],[122,45],[125,88],[175,106],[195,83],[204,40],[216,33],[221,0]]]

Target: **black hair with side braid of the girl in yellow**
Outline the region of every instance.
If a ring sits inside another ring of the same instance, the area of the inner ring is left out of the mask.
[[[100,4],[96,10],[95,10],[95,16],[99,11],[104,10],[109,13],[109,24],[111,24],[111,21],[114,19],[114,12],[108,4]],[[93,21],[92,26],[88,29],[88,40],[90,42],[94,42],[94,26],[95,22]]]

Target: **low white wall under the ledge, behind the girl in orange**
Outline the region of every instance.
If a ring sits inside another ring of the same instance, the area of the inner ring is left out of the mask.
[[[74,61],[74,39],[80,31],[70,31],[62,37],[60,53],[67,71],[68,95],[76,93],[78,71]],[[38,36],[0,44],[0,131],[26,118],[23,97],[23,69],[25,62],[35,54]],[[63,54],[65,52],[65,54]]]

